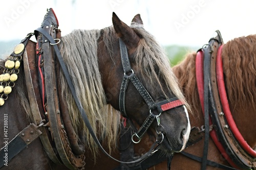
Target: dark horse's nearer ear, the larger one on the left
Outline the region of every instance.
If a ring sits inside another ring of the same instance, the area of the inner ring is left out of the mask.
[[[140,41],[140,37],[133,31],[133,29],[121,21],[114,12],[112,22],[117,35],[123,40],[127,48],[136,48]]]

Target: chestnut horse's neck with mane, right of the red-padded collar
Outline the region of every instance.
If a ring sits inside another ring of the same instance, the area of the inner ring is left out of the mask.
[[[256,147],[256,36],[239,37],[223,45],[224,82],[230,112],[240,133]]]

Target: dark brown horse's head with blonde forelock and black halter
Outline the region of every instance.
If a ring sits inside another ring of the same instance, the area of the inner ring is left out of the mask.
[[[98,42],[99,68],[103,73],[107,102],[131,120],[130,124],[135,123],[137,128],[142,127],[145,131],[148,128],[156,140],[162,142],[161,149],[166,153],[183,150],[190,132],[188,105],[162,48],[145,31],[139,14],[133,18],[130,27],[115,13],[112,21],[115,32],[111,51],[114,54],[105,53],[104,47],[110,43],[109,39],[104,39],[106,33],[102,33]],[[127,53],[128,59],[121,57],[125,54],[120,53],[123,47],[119,41],[125,44],[127,51],[124,53]],[[161,106],[177,103],[180,103],[177,107],[160,109]],[[148,119],[156,120],[150,122]],[[145,131],[139,130],[138,133]],[[142,137],[138,133],[133,138],[135,142]]]

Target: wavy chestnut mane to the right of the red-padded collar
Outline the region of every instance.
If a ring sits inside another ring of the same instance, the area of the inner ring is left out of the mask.
[[[229,103],[234,109],[236,106],[255,108],[256,35],[228,41],[222,49],[222,60]]]

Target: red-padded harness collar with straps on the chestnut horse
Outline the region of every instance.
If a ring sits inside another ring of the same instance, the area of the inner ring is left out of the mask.
[[[206,165],[223,169],[256,169],[256,153],[244,141],[229,110],[224,85],[222,47],[223,40],[217,30],[209,43],[198,50],[196,57],[198,93],[205,118],[203,158],[184,151],[181,153],[202,162],[202,169],[206,169]],[[210,131],[209,127],[213,129]],[[209,135],[232,167],[207,160]]]

